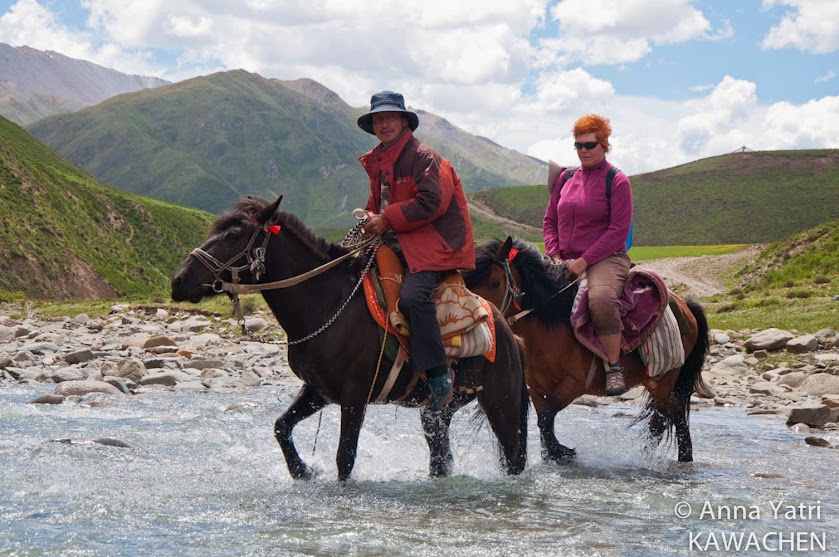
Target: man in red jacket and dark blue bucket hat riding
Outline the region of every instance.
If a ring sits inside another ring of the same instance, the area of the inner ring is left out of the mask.
[[[399,311],[408,320],[414,372],[425,372],[430,405],[441,409],[452,398],[454,372],[448,366],[431,291],[446,271],[475,268],[475,243],[466,195],[451,163],[414,137],[419,118],[405,99],[381,91],[358,127],[381,142],[359,158],[370,176],[367,200],[371,234],[392,230],[408,268],[399,291]]]

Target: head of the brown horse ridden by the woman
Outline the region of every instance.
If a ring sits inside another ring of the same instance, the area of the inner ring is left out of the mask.
[[[489,240],[475,248],[475,269],[463,273],[466,287],[495,304],[504,315],[521,309],[521,277],[511,264],[518,252],[510,236],[503,242]]]

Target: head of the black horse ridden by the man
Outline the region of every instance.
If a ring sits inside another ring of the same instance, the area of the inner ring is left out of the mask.
[[[265,246],[283,197],[273,203],[244,198],[220,215],[201,247],[192,250],[172,278],[172,300],[197,303],[223,292],[222,284],[256,283],[265,274]]]

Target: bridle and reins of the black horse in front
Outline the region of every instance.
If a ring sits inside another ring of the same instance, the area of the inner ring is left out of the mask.
[[[253,219],[253,217],[251,218]],[[255,219],[253,220],[255,221]],[[336,259],[333,259],[332,261],[328,261],[327,263],[324,263],[319,267],[306,271],[305,273],[274,282],[254,282],[242,284],[239,280],[239,273],[246,269],[249,270],[251,272],[251,275],[253,276],[254,281],[259,281],[260,276],[265,274],[265,254],[266,247],[268,246],[268,240],[271,239],[272,235],[279,234],[281,229],[281,227],[276,224],[266,224],[258,227],[254,231],[253,235],[250,237],[250,240],[248,240],[248,244],[245,246],[245,248],[236,255],[233,255],[224,263],[219,261],[213,255],[207,253],[200,247],[192,250],[189,253],[189,255],[194,257],[199,263],[204,265],[213,274],[212,284],[205,284],[202,286],[208,286],[212,288],[213,292],[215,292],[216,294],[227,292],[230,296],[230,299],[233,302],[233,312],[236,315],[236,319],[239,325],[242,327],[242,332],[244,332],[251,338],[260,340],[245,325],[245,316],[242,312],[241,304],[239,303],[239,294],[251,294],[254,292],[262,292],[264,290],[275,290],[279,288],[289,288],[291,286],[295,286],[297,284],[306,282],[310,278],[316,277],[321,273],[328,271],[329,269],[337,266],[341,262],[354,256],[356,253],[366,248],[368,252],[367,264],[364,266],[364,269],[361,272],[361,276],[359,277],[358,282],[353,287],[352,292],[350,292],[350,295],[347,297],[346,301],[341,305],[340,308],[338,308],[338,311],[335,312],[335,314],[331,318],[329,318],[329,320],[327,320],[326,323],[324,323],[318,330],[306,335],[303,338],[289,340],[288,345],[293,346],[295,344],[306,342],[307,340],[310,340],[318,336],[323,331],[325,331],[330,325],[332,325],[335,322],[335,320],[338,319],[338,316],[341,315],[341,313],[347,307],[347,304],[349,304],[350,300],[353,298],[353,296],[355,296],[355,293],[358,291],[359,287],[363,283],[364,277],[369,272],[370,266],[372,265],[373,260],[375,259],[375,257],[373,257],[373,254],[382,243],[382,240],[379,236],[363,237],[363,235],[361,234],[363,225],[363,221],[358,222],[350,230],[350,232],[347,233],[346,238],[344,238],[344,242],[342,242],[342,245],[344,245],[344,247],[349,247],[346,244],[350,240],[350,238],[352,238],[352,242],[354,242],[353,248],[349,252]],[[262,244],[254,248],[253,246],[256,243],[256,240],[259,237],[260,233],[264,233],[265,237],[262,240]],[[242,258],[245,258],[246,262],[242,265],[236,266],[235,263]],[[230,282],[221,279],[221,274],[227,270],[230,271]]]

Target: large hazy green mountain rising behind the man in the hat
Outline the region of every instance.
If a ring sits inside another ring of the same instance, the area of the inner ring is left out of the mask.
[[[29,129],[133,193],[213,213],[241,195],[282,193],[310,226],[349,227],[369,189],[358,157],[376,144],[356,125],[361,112],[311,80],[235,70],[120,95]],[[468,190],[530,183],[541,172],[539,162],[446,124],[423,113],[417,137],[451,160]]]

